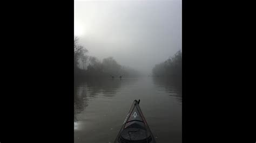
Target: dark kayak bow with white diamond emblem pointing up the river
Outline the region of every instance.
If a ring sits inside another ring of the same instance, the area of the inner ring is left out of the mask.
[[[154,143],[156,140],[139,107],[139,101],[134,100],[115,143],[138,142]]]

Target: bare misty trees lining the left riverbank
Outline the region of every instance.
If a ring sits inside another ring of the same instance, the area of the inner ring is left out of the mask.
[[[105,58],[102,61],[95,56],[89,56],[88,50],[78,44],[78,38],[74,39],[74,78],[120,78],[138,77],[140,73],[130,67],[119,65],[113,57]]]

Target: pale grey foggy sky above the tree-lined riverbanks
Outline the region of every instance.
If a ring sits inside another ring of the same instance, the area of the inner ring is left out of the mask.
[[[150,74],[182,48],[181,1],[75,1],[75,35],[89,55]]]

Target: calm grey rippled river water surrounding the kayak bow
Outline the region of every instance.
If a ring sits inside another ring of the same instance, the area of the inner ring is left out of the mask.
[[[134,99],[157,142],[182,142],[181,84],[161,77],[75,83],[75,142],[113,142]]]

